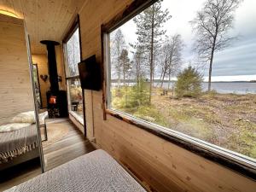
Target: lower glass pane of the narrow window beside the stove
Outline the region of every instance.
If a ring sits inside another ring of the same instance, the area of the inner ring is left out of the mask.
[[[79,79],[68,79],[70,109],[83,118],[83,95]]]

